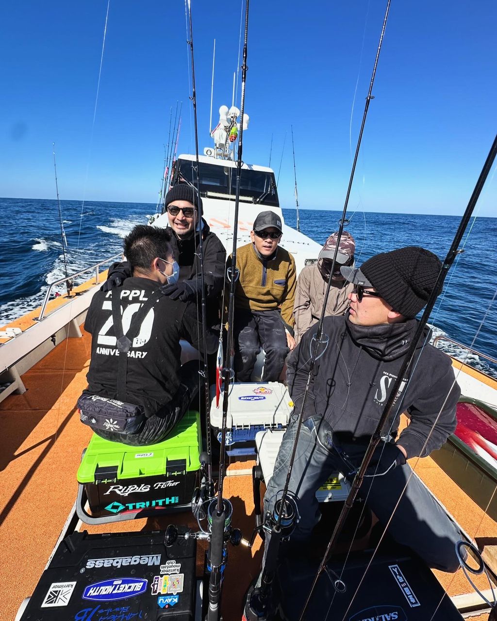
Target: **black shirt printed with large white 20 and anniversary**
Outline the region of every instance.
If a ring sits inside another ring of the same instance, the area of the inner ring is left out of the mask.
[[[148,278],[127,278],[122,289],[98,291],[94,295],[84,322],[84,329],[92,335],[91,360],[86,375],[90,392],[117,398],[119,352],[112,324],[111,294],[121,291],[122,327],[126,333],[132,315],[141,306],[140,299],[147,299],[158,289],[158,283]],[[173,301],[162,296],[148,312],[128,353],[126,381],[127,398],[144,406],[147,416],[171,401],[178,389],[180,339],[185,338],[201,351],[199,334],[201,325],[196,305],[192,302]],[[216,335],[207,333],[207,353],[216,350]]]

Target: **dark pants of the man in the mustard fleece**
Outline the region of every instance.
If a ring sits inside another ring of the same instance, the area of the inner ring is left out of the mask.
[[[249,382],[261,345],[266,353],[263,381],[280,378],[288,355],[285,325],[279,311],[235,310],[235,376]]]

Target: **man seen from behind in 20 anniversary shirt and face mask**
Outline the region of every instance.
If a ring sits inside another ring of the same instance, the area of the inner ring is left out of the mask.
[[[91,360],[78,408],[101,437],[137,446],[163,440],[198,392],[199,361],[180,366],[180,339],[202,351],[202,330],[195,303],[163,293],[180,271],[168,229],[136,226],[124,254],[131,276],[98,291],[86,315]],[[209,331],[207,354],[216,348]]]

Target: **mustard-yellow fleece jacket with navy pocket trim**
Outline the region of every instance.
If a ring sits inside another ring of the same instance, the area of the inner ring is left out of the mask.
[[[227,266],[232,265],[232,256]],[[235,288],[235,309],[271,311],[281,307],[281,319],[293,327],[293,302],[296,288],[295,260],[278,246],[271,260],[260,259],[252,243],[238,248],[240,277]],[[225,299],[227,299],[225,297]]]

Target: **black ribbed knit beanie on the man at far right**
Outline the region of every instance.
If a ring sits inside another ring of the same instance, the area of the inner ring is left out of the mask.
[[[382,252],[360,266],[385,302],[409,319],[425,306],[441,269],[436,255],[417,246]]]

